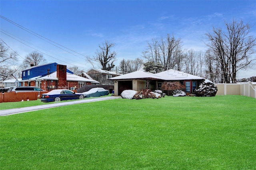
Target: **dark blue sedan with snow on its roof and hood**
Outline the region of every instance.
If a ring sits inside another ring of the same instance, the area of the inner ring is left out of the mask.
[[[75,93],[66,89],[56,89],[42,94],[41,102],[59,102],[61,100],[74,100],[83,98],[84,96],[81,93]]]

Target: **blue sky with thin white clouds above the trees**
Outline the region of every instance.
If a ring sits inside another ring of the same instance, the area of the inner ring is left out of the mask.
[[[205,51],[205,33],[213,26],[224,28],[224,21],[249,22],[254,25],[251,34],[256,35],[256,1],[1,0],[0,14],[82,54],[64,51],[1,18],[1,31],[9,35],[1,32],[1,39],[21,56],[17,64],[37,49],[45,53],[49,63],[76,65],[84,70],[92,68],[84,56],[92,57],[105,40],[116,44],[113,50],[118,61],[114,64],[118,66],[121,59],[141,57],[148,41],[168,33],[182,39],[184,48],[196,51]],[[256,55],[253,57],[256,59]],[[256,66],[238,74],[241,78],[250,76],[256,76]]]

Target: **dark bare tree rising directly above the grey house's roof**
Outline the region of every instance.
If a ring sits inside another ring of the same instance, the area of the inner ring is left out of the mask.
[[[114,68],[114,62],[116,61],[116,52],[111,51],[115,46],[114,43],[105,41],[102,45],[99,45],[99,48],[93,57],[87,57],[86,60],[94,65],[94,62],[98,63],[101,66],[102,70],[110,71]]]

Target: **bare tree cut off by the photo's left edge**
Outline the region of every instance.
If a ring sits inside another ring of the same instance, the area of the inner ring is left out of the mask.
[[[17,53],[11,51],[0,41],[0,80],[6,80],[9,77],[14,77],[14,73],[18,70],[15,66]]]

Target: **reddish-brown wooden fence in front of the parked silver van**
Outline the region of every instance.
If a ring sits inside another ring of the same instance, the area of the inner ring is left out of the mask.
[[[43,93],[47,92],[19,92],[19,93],[0,93],[0,103],[2,102],[20,102],[22,100],[37,100]]]

